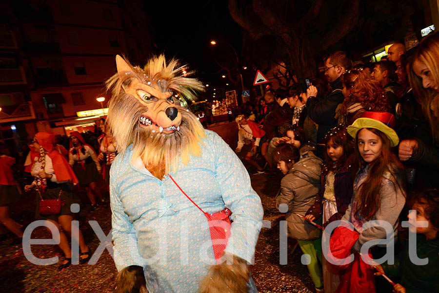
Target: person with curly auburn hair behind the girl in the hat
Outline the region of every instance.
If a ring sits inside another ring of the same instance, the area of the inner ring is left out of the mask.
[[[343,103],[336,110],[339,124],[351,125],[364,111],[388,111],[387,94],[370,74],[350,70],[341,75]]]

